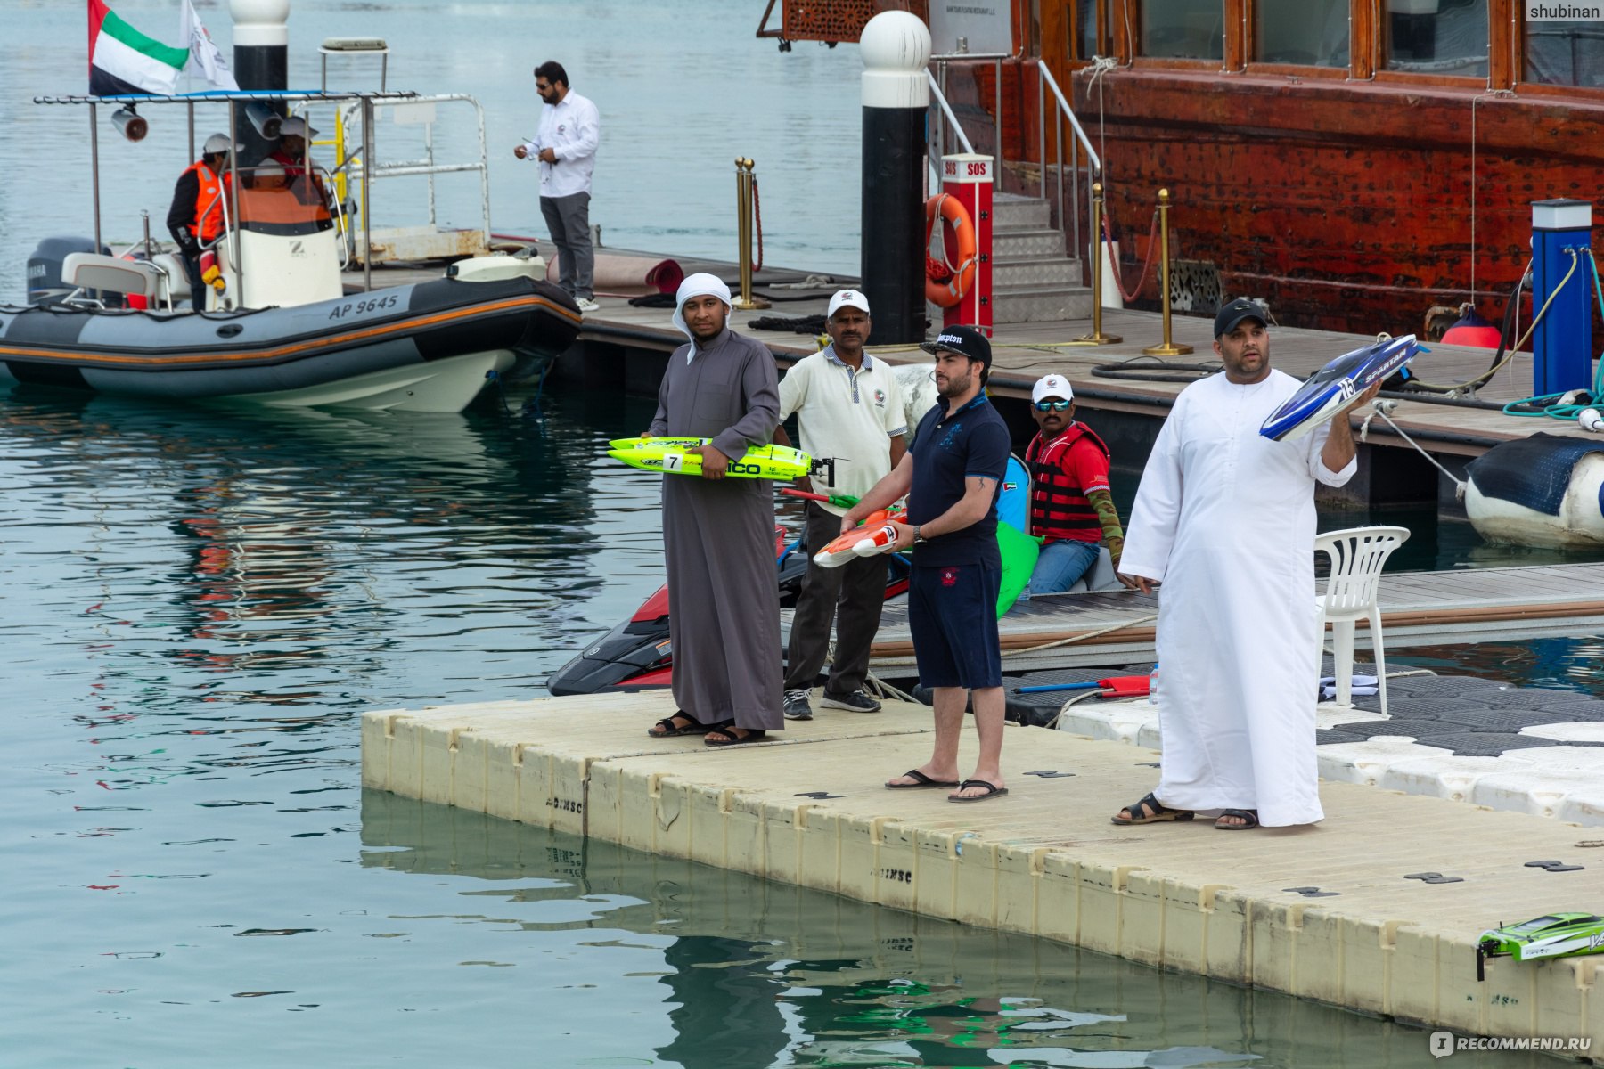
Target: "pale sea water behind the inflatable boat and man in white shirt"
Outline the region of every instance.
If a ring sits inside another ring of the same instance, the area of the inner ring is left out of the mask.
[[[119,0],[130,24],[176,37],[176,0]],[[223,0],[196,10],[233,54]],[[765,261],[858,272],[861,106],[857,48],[799,43],[780,54],[754,30],[751,0],[294,0],[289,83],[318,88],[318,45],[329,37],[383,37],[388,88],[470,93],[484,106],[491,218],[497,232],[545,234],[534,165],[512,155],[534,133],[541,99],[534,66],[558,59],[573,88],[602,112],[590,221],[616,248],[735,260],[735,157],[757,160]],[[0,301],[21,300],[22,268],[40,237],[93,234],[88,114],[38,106],[38,95],[85,93],[82,3],[0,0]],[[379,88],[377,59],[330,58],[330,88]],[[196,88],[205,88],[197,85]],[[441,106],[436,157],[478,159],[472,111]],[[324,115],[327,112],[322,112]],[[140,212],[165,237],[173,181],[192,160],[181,106],[146,107],[151,133],[130,144],[101,115],[103,234],[141,236]],[[199,109],[197,139],[226,130],[226,111]],[[220,125],[221,123],[221,125]],[[327,131],[329,123],[314,127]],[[420,159],[417,127],[380,122],[375,159]],[[476,176],[439,180],[441,221],[478,224]],[[427,218],[422,180],[375,183],[374,223]]]

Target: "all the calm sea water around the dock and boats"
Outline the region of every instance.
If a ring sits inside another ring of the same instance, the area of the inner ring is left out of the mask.
[[[172,6],[117,10],[159,32]],[[749,40],[760,8],[298,0],[292,80],[316,77],[321,37],[383,34],[393,85],[478,93],[510,143],[528,67],[560,56],[619,131],[595,215],[616,244],[720,253],[723,160],[752,154],[788,163],[772,240],[850,269],[857,58],[775,54]],[[226,43],[226,13],[202,11]],[[16,295],[37,236],[88,210],[82,130],[22,103],[82,90],[83,16],[0,0],[0,18]],[[160,218],[183,159],[156,141],[119,146],[104,181]],[[497,223],[533,226],[523,176],[492,178]],[[816,204],[837,189],[832,244]],[[135,236],[120,212],[107,232]],[[536,696],[661,582],[653,479],[598,458],[650,401],[561,389],[545,409],[0,393],[0,1064],[1426,1063],[1418,1031],[364,795],[363,710]],[[1522,649],[1543,647],[1440,656],[1590,686],[1570,673],[1596,646],[1506,664]]]

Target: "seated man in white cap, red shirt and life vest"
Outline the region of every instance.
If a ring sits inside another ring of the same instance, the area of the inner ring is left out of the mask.
[[[1124,548],[1120,513],[1108,492],[1108,447],[1075,420],[1075,388],[1063,375],[1044,375],[1030,391],[1036,438],[1025,447],[1030,468],[1030,534],[1043,539],[1028,595],[1073,587],[1108,543],[1115,571]],[[1134,587],[1136,580],[1128,580]]]

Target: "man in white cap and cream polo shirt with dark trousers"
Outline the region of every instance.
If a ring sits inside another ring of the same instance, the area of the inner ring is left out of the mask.
[[[876,482],[890,474],[905,446],[903,409],[897,377],[884,361],[863,349],[869,340],[869,298],[858,290],[839,290],[824,313],[829,345],[802,357],[780,383],[780,422],[797,413],[802,452],[836,458],[834,471],[816,481],[797,479],[826,502],[808,502],[802,542],[812,555],[840,534],[840,518]],[[775,441],[789,446],[783,426]],[[826,481],[828,479],[828,481]],[[881,704],[863,692],[869,675],[869,644],[881,630],[885,604],[887,558],[860,556],[842,567],[820,567],[808,561],[791,617],[786,652],[786,720],[813,720],[808,691],[829,656],[829,627],[836,623],[836,659],[824,681],[824,708],[877,713]]]

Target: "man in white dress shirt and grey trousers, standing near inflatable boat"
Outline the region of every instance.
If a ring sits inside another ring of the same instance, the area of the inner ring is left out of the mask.
[[[555,59],[534,69],[534,90],[545,101],[534,141],[525,141],[513,155],[541,163],[541,215],[557,245],[557,280],[593,313],[590,276],[595,250],[590,245],[590,175],[602,143],[602,117],[589,98],[568,88],[568,71]]]

